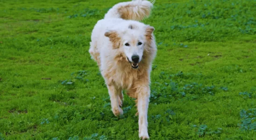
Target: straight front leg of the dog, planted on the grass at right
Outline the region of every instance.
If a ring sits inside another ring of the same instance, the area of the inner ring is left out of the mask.
[[[139,137],[142,140],[149,139],[148,134],[148,107],[150,89],[147,87],[139,87],[138,92],[138,113],[139,113]]]

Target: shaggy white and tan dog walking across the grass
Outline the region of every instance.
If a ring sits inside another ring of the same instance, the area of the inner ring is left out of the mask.
[[[149,139],[149,84],[156,42],[155,29],[139,21],[149,16],[152,7],[153,3],[147,0],[116,4],[95,25],[89,49],[107,84],[114,115],[123,113],[122,90],[136,98],[142,139]]]

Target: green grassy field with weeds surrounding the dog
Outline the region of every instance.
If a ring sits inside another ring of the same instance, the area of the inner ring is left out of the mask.
[[[122,0],[0,0],[0,140],[137,140],[88,53]],[[156,0],[151,140],[256,140],[256,0]]]

